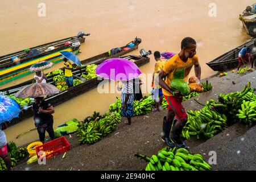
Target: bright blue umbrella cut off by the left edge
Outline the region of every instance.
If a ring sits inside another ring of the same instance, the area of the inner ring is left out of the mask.
[[[13,98],[0,94],[0,124],[19,116],[19,104]]]

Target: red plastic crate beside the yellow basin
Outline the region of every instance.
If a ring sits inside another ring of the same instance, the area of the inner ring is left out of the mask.
[[[51,154],[46,155],[46,160],[51,159],[54,156],[60,155],[70,149],[70,144],[65,137],[56,138],[50,142],[44,143],[42,146],[38,146],[35,148],[38,158],[40,158],[40,151],[53,151]]]

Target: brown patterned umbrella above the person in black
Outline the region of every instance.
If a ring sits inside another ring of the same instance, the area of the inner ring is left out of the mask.
[[[60,90],[56,86],[47,83],[35,83],[25,86],[19,90],[14,96],[17,98],[36,98],[44,96],[52,96],[59,93]]]

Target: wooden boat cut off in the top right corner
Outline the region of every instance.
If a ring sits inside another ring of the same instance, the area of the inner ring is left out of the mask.
[[[251,8],[255,8],[255,6],[256,3],[251,5]],[[239,19],[242,21],[247,34],[256,38],[256,14],[248,13],[244,10]]]

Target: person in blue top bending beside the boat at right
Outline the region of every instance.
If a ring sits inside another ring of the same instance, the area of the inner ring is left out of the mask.
[[[237,70],[241,67],[241,65],[246,65],[246,63],[251,63],[251,69],[253,69],[253,56],[251,55],[250,47],[243,47],[241,51],[238,53],[238,67]]]

